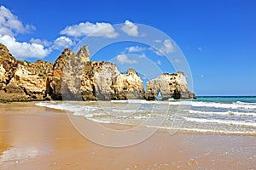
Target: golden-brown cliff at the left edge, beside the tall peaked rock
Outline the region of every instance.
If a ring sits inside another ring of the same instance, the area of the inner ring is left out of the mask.
[[[52,65],[43,60],[35,63],[19,61],[0,44],[0,100],[43,100],[46,77]]]

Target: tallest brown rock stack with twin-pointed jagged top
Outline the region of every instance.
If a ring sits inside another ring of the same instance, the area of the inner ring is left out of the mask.
[[[55,60],[52,71],[50,71],[47,78],[46,98],[81,99],[82,76],[83,72],[88,68],[86,65],[90,63],[89,56],[87,46],[80,48],[78,54],[68,48],[64,49],[58,59]],[[88,99],[95,99],[93,95],[88,95]]]

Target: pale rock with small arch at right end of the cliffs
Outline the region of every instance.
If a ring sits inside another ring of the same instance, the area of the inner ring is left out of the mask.
[[[147,82],[146,99],[154,100],[159,93],[162,99],[195,99],[195,94],[189,91],[188,83],[181,71],[176,74],[165,73]]]

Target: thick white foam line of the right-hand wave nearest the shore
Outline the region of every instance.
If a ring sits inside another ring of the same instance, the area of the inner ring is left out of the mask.
[[[205,119],[205,118],[194,118],[183,116],[187,122],[201,122],[201,123],[218,123],[226,125],[238,125],[245,127],[256,127],[256,122],[241,122],[241,121],[231,121],[231,120],[219,120],[219,119]]]

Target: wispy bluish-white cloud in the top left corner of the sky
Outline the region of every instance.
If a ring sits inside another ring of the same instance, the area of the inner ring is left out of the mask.
[[[0,7],[0,34],[14,36],[17,33],[26,33],[35,30],[34,26],[23,25],[9,8]]]

